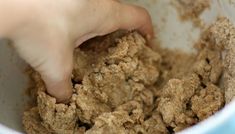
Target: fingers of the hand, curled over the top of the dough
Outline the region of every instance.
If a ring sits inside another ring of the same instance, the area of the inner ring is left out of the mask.
[[[144,8],[122,4],[118,0],[103,0],[103,3],[97,1],[98,4],[95,4],[94,1],[92,2],[90,3],[92,5],[90,9],[93,10],[89,12],[90,15],[88,16],[92,15],[93,17],[84,26],[86,30],[91,29],[86,31],[86,34],[77,38],[75,47],[90,38],[106,35],[118,29],[139,30],[147,39],[153,37],[152,20]]]

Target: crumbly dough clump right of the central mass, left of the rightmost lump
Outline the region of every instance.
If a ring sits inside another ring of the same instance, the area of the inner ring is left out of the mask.
[[[186,128],[197,122],[186,105],[199,85],[200,80],[195,74],[183,80],[169,80],[162,90],[157,108],[167,126],[178,130],[178,126]]]

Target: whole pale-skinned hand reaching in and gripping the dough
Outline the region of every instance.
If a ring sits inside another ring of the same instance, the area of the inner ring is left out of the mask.
[[[153,36],[147,11],[118,0],[0,0],[0,38],[13,41],[57,102],[72,95],[74,48],[118,29]]]

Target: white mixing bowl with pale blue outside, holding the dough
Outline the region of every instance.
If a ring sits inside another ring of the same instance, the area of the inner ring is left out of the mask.
[[[182,22],[171,0],[123,0],[145,7],[149,10],[157,37],[164,47],[178,48],[193,52],[193,44],[198,40],[201,30],[191,21]],[[207,24],[215,21],[218,15],[227,16],[235,23],[235,0],[212,0],[211,8],[200,18]],[[165,20],[165,21],[162,21]],[[5,41],[0,41],[0,134],[23,133],[21,117],[25,100],[24,89],[27,77],[25,63]],[[232,129],[234,127],[234,130]],[[214,134],[235,133],[235,102],[209,119],[180,133]]]

